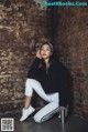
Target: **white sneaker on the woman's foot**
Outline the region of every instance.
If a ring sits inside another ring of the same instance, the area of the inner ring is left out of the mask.
[[[31,105],[30,105],[30,108],[29,109],[23,109],[22,110],[22,116],[21,116],[21,119],[20,119],[20,121],[24,121],[29,115],[31,115],[33,112],[35,111],[35,109],[34,108],[32,108]]]

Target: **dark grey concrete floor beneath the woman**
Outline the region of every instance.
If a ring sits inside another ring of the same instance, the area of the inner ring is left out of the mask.
[[[55,115],[50,121],[35,123],[33,116],[20,122],[21,114],[7,114],[1,118],[14,118],[14,132],[88,132],[88,122],[77,115],[70,115],[64,125]]]

